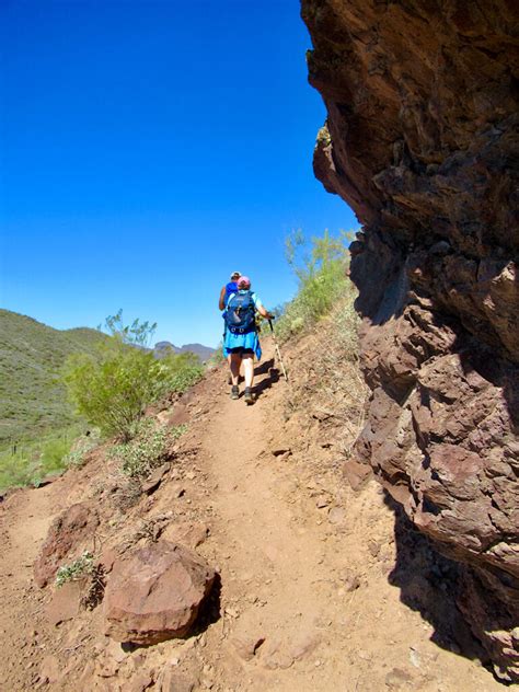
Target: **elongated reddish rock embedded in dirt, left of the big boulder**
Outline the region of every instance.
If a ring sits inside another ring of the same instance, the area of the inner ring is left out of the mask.
[[[39,587],[54,579],[72,551],[92,540],[99,523],[97,511],[88,503],[72,505],[53,521],[34,565],[34,580]]]

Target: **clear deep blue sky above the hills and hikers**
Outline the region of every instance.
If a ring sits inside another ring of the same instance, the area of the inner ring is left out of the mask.
[[[0,304],[57,328],[123,308],[216,345],[220,287],[357,223],[314,180],[325,117],[297,0],[0,0]]]

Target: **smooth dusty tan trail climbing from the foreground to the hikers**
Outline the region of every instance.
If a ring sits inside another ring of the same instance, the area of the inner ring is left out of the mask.
[[[215,517],[203,550],[219,561],[223,610],[223,627],[207,632],[206,685],[501,689],[486,670],[434,644],[434,627],[390,586],[394,521],[380,487],[357,496],[313,452],[274,455],[282,451],[276,406],[286,384],[270,388],[268,370],[258,370],[257,403],[246,407],[223,389],[204,434]]]

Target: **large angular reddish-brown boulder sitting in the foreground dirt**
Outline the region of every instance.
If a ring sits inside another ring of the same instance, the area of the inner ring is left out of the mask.
[[[104,599],[105,634],[139,645],[188,635],[215,578],[196,553],[169,541],[116,560]]]

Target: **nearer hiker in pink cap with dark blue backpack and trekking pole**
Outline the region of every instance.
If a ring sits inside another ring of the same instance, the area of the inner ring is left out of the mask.
[[[223,339],[223,355],[229,359],[231,368],[231,399],[240,397],[238,387],[240,367],[243,362],[245,376],[244,400],[247,405],[254,403],[252,384],[254,381],[254,356],[258,360],[262,358],[262,348],[257,336],[256,310],[272,320],[273,315],[265,310],[260,297],[251,290],[251,279],[240,276],[237,281],[238,290],[229,296],[227,310],[223,319],[226,321],[226,336]]]

